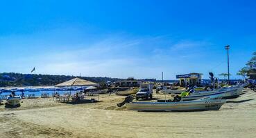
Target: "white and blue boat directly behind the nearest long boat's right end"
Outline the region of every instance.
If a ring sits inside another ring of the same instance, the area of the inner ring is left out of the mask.
[[[203,91],[203,92],[194,92],[187,97],[182,97],[183,101],[201,99],[203,97],[221,97],[223,99],[237,98],[241,94],[243,87],[241,86],[232,86],[229,88],[220,88],[219,90],[213,91]]]

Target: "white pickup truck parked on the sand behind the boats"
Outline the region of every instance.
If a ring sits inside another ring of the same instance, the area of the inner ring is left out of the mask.
[[[139,92],[136,93],[136,99],[152,99],[153,84],[141,84]]]

